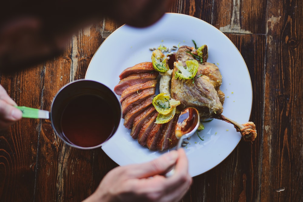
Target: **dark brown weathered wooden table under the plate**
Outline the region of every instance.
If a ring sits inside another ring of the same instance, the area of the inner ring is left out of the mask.
[[[241,141],[218,166],[194,177],[183,201],[303,200],[302,10],[301,0],[173,4],[170,12],[214,25],[241,52],[253,87],[251,121],[258,130],[253,144]],[[105,18],[79,30],[64,54],[1,75],[1,85],[18,105],[50,110],[56,92],[85,77],[95,51],[119,26]],[[102,149],[65,145],[49,120],[22,119],[0,132],[0,201],[81,201],[116,166]]]

